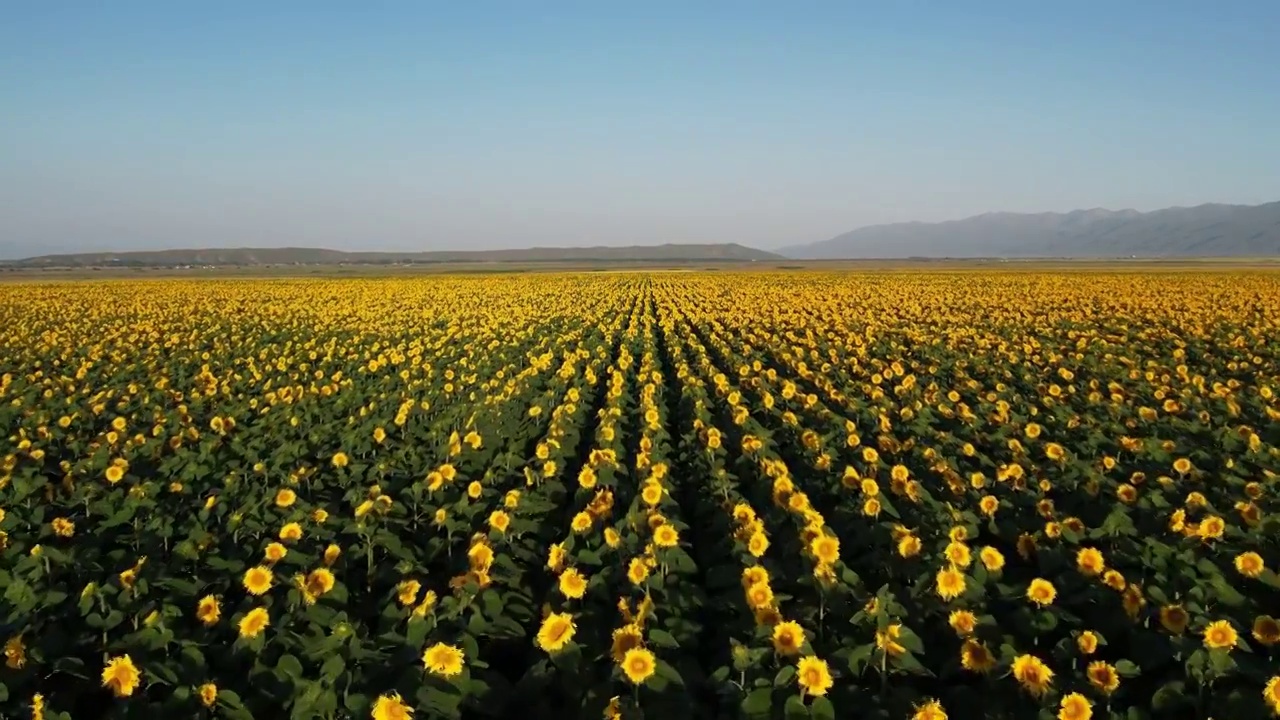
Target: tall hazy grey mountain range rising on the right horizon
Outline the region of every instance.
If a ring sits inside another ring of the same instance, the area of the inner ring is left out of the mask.
[[[872,225],[781,252],[796,259],[1270,256],[1280,255],[1280,202],[1151,213],[987,213],[945,223]]]

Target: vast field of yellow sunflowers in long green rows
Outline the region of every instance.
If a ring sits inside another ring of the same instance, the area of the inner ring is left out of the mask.
[[[0,284],[0,717],[1280,715],[1280,278]]]

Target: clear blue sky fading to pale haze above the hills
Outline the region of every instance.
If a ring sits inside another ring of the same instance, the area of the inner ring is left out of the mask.
[[[1280,1],[12,1],[0,258],[1280,200]]]

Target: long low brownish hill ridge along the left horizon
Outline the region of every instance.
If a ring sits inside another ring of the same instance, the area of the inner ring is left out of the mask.
[[[174,265],[333,265],[394,263],[701,263],[778,260],[780,255],[723,245],[630,247],[529,247],[524,250],[448,250],[435,252],[343,252],[317,247],[232,247],[42,255],[6,263],[18,268],[146,268]],[[3,265],[5,263],[0,263]]]

